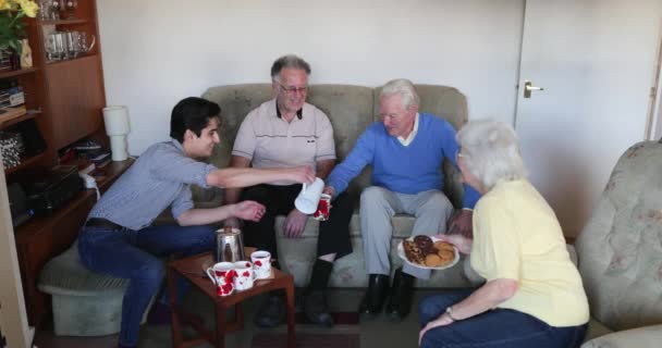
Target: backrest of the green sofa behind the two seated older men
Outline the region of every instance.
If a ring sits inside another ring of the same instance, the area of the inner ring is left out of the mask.
[[[467,102],[457,89],[446,86],[416,85],[420,95],[420,111],[439,115],[457,129],[467,121]],[[379,91],[352,85],[312,85],[307,101],[322,110],[333,125],[335,152],[342,161],[354,147],[358,136],[366,127],[379,121]],[[218,167],[230,163],[232,146],[242,121],[253,109],[273,98],[270,84],[244,84],[210,87],[203,98],[221,105],[224,128],[220,133],[221,142],[217,146],[210,162]],[[449,163],[444,164],[446,175],[445,191],[451,200],[459,204],[462,186],[457,173]],[[370,169],[352,182],[347,190],[355,195],[370,184]]]

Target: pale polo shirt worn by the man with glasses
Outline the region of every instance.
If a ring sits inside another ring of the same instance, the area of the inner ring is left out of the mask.
[[[309,103],[304,103],[289,123],[280,116],[275,99],[272,99],[246,115],[232,154],[252,160],[253,167],[315,166],[318,161],[335,160],[333,127],[329,117]],[[292,185],[294,182],[269,184]]]

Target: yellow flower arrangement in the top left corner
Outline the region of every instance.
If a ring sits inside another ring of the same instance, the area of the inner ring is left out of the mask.
[[[12,48],[21,54],[25,37],[24,16],[35,17],[39,7],[33,0],[0,0],[0,48]]]

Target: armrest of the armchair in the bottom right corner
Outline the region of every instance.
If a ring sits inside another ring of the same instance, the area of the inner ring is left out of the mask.
[[[581,348],[654,348],[662,341],[662,325],[611,333],[584,343]]]

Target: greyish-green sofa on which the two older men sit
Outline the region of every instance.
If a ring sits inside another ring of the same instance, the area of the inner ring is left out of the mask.
[[[463,94],[453,87],[416,85],[420,95],[420,111],[430,112],[449,121],[456,129],[467,121],[467,101]],[[342,161],[352,150],[358,136],[366,127],[378,121],[380,88],[370,88],[351,85],[312,85],[307,101],[322,110],[333,125],[335,151],[338,161]],[[218,86],[207,89],[203,98],[221,105],[222,130],[221,142],[217,146],[213,156],[209,159],[218,167],[225,167],[230,163],[231,151],[236,132],[246,114],[271,97],[269,84],[245,84]],[[440,166],[444,171],[444,191],[456,208],[461,208],[463,188],[458,183],[458,172],[445,161]],[[335,262],[330,278],[331,287],[366,287],[368,276],[364,262],[364,252],[360,238],[358,198],[364,188],[370,185],[370,169],[367,167],[356,177],[347,188],[347,192],[355,199],[355,212],[351,222],[351,236],[354,252]],[[197,207],[214,207],[222,203],[222,190],[195,189],[194,199]],[[333,210],[331,210],[333,213]],[[275,231],[281,266],[285,272],[294,275],[296,286],[305,286],[308,282],[310,269],[316,257],[318,236],[318,222],[310,219],[302,239],[285,238],[282,223],[285,216],[279,216]],[[393,239],[391,241],[392,271],[402,264],[396,254],[397,244],[410,236],[415,219],[410,215],[396,215],[393,217]],[[283,262],[284,261],[284,262]],[[461,262],[456,266],[432,273],[429,281],[417,281],[417,287],[452,288],[470,285],[479,281],[471,272],[465,272],[468,262]],[[467,269],[468,271],[468,269]]]

